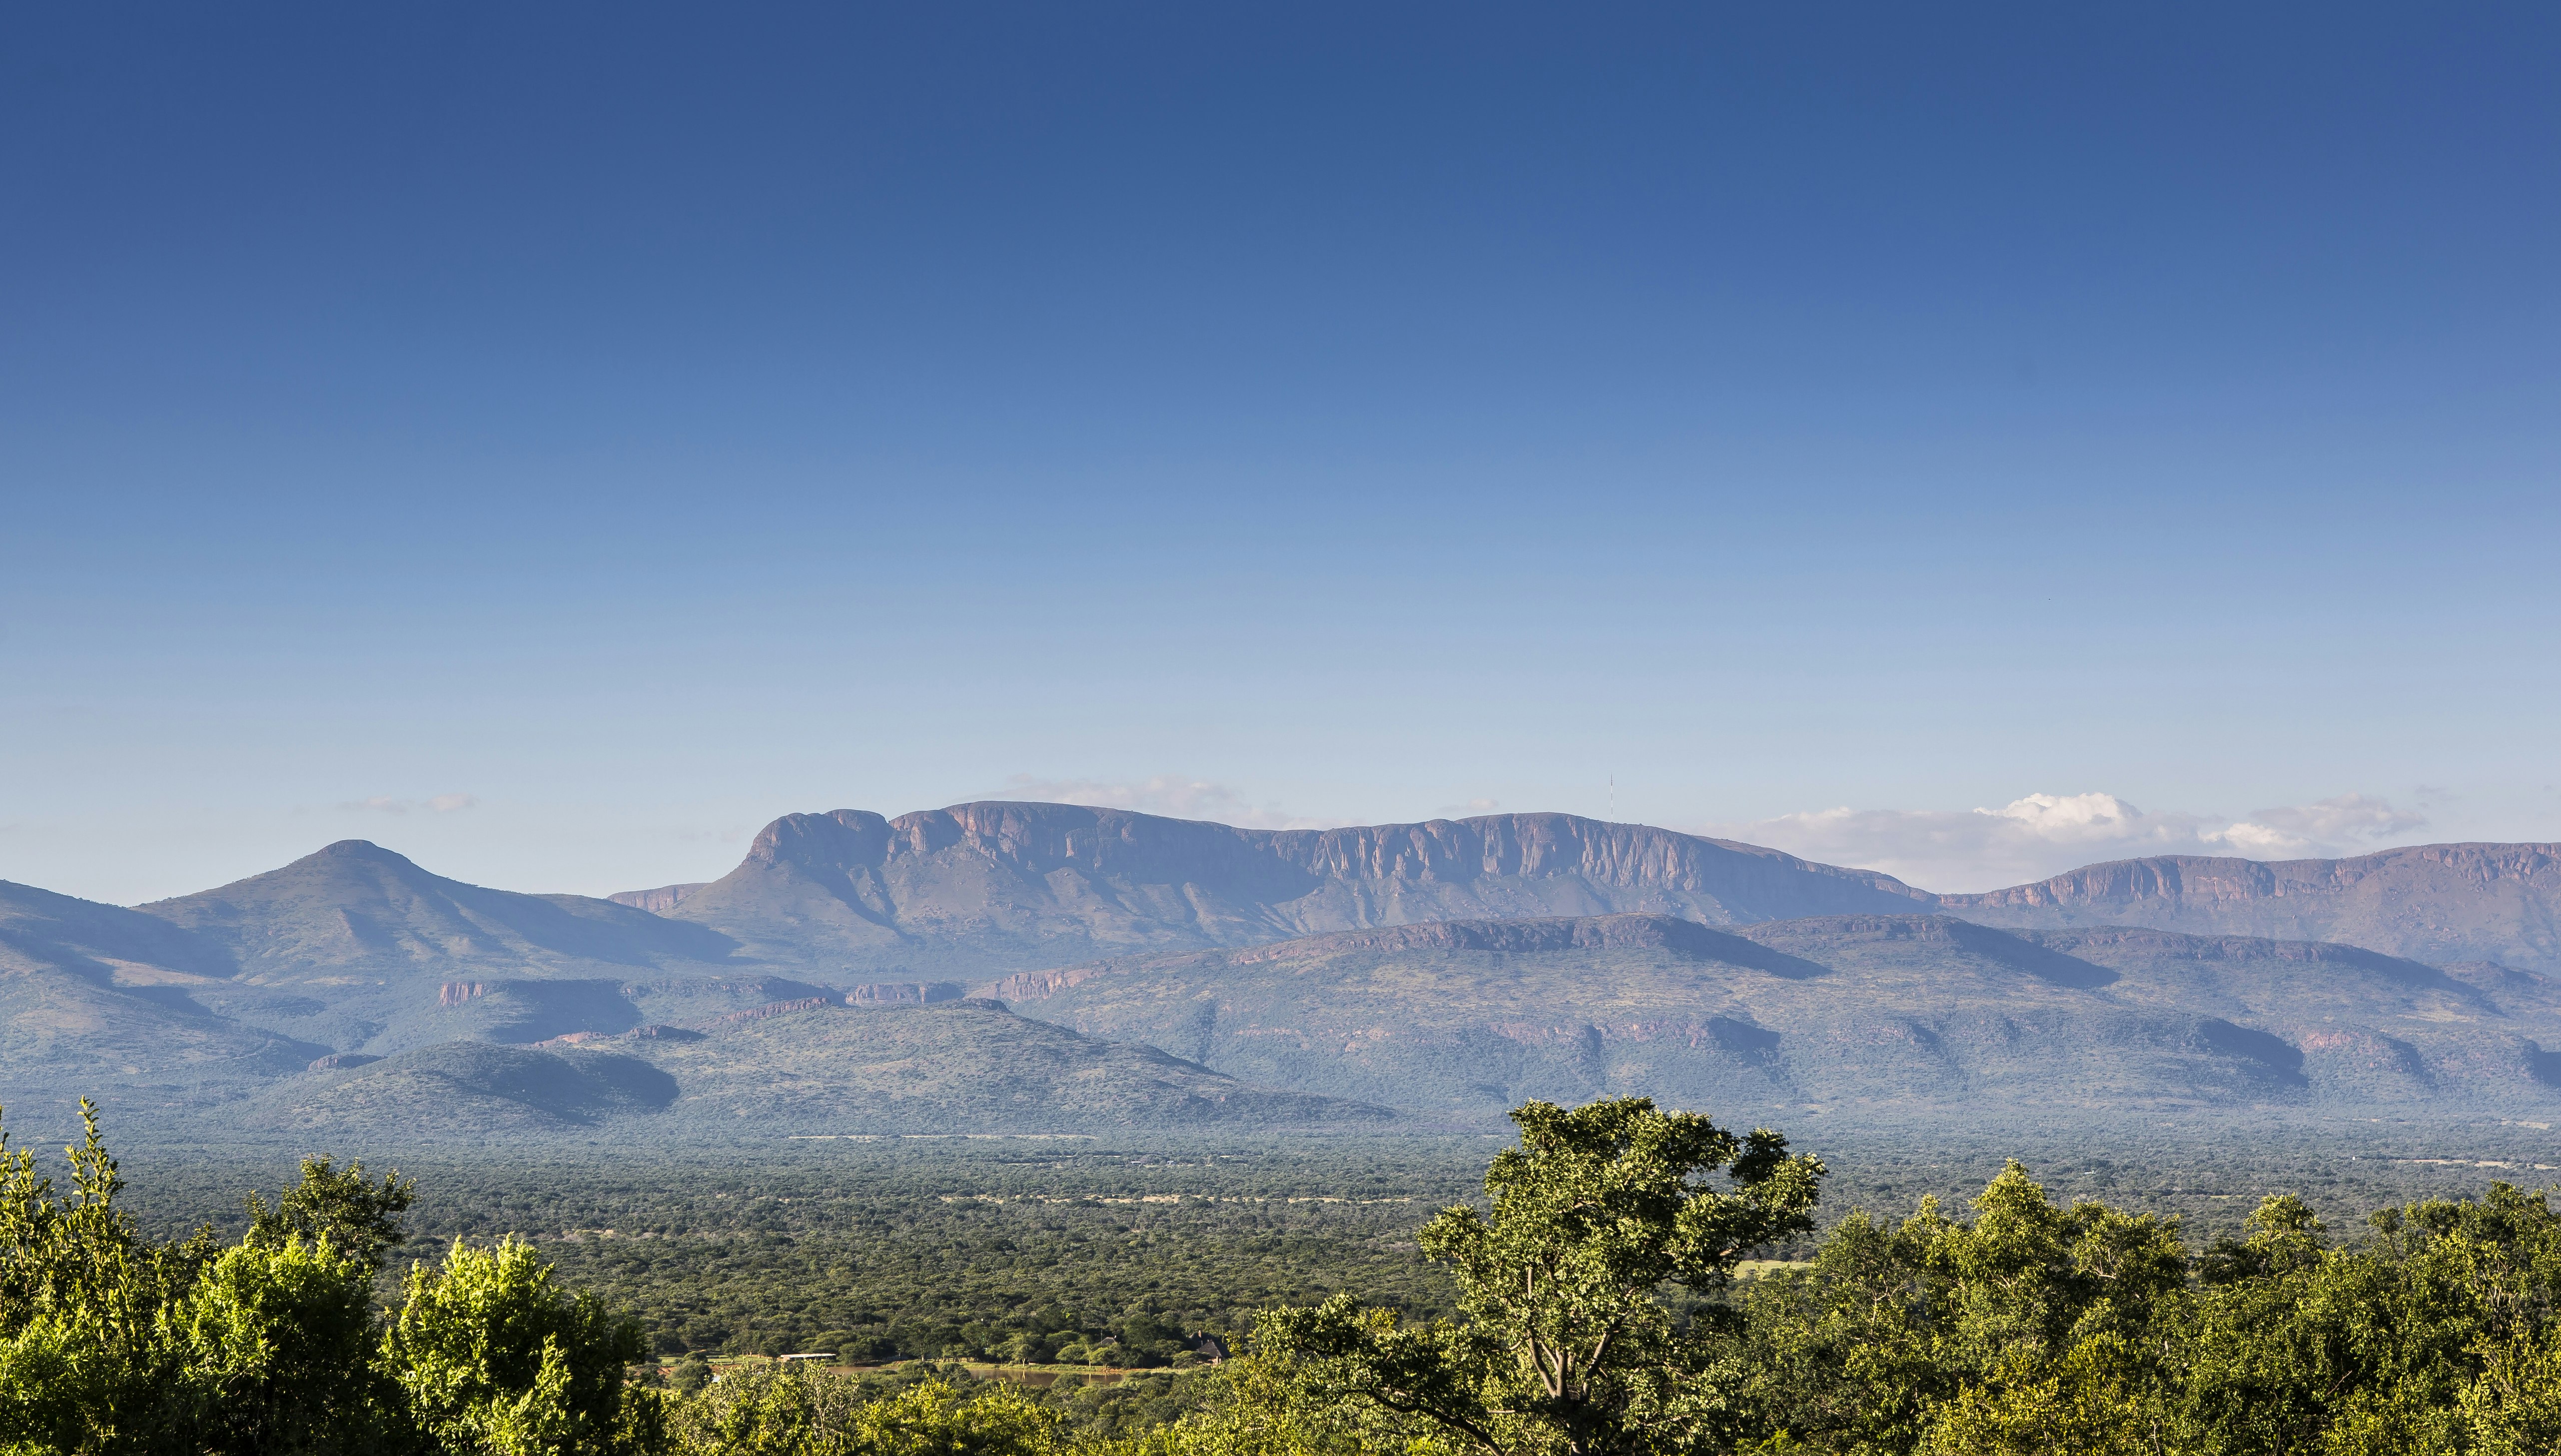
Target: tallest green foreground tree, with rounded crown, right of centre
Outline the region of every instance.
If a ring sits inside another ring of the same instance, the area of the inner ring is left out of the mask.
[[[1739,1369],[1718,1359],[1713,1308],[1683,1325],[1660,1295],[1713,1295],[1744,1254],[1808,1231],[1823,1164],[1767,1128],[1739,1139],[1649,1098],[1526,1103],[1511,1121],[1521,1146],[1485,1172],[1491,1215],[1450,1208],[1419,1238],[1452,1267],[1465,1323],[1398,1328],[1334,1297],[1265,1313],[1260,1349],[1314,1400],[1352,1402],[1406,1441],[1493,1456],[1711,1441]]]

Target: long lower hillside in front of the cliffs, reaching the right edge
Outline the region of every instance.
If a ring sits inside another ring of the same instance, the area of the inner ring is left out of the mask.
[[[1273,1088],[1447,1113],[1611,1093],[1882,1121],[2561,1111],[2551,983],[2233,937],[1608,916],[1127,957],[989,990]]]

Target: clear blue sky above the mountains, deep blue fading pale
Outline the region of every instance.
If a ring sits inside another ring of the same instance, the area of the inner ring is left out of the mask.
[[[20,8],[0,878],[2561,837],[2561,13],[2059,10]]]

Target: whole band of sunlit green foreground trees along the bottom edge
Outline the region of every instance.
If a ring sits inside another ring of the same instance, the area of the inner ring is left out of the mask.
[[[1242,1359],[1119,1392],[925,1364],[661,1379],[638,1323],[515,1238],[456,1241],[382,1300],[415,1192],[361,1167],[307,1162],[236,1238],[151,1238],[92,1126],[64,1190],[0,1157],[0,1453],[2561,1451],[2541,1195],[2418,1200],[2354,1238],[2279,1195],[2192,1249],[2013,1164],[1969,1215],[1806,1244],[1823,1167],[1775,1134],[1636,1098],[1516,1121],[1485,1198],[1416,1236],[1444,1297],[1275,1305]],[[1811,1259],[1736,1279],[1772,1246]],[[1178,1313],[1094,1313],[955,1343],[1201,1359]]]

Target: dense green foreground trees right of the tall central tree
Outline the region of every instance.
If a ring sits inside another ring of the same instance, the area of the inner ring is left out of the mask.
[[[2336,1246],[2297,1198],[2190,1262],[2177,1221],[2010,1167],[1959,1223],[1844,1221],[1759,1279],[1747,1430],[1798,1451],[2507,1453],[2561,1438],[2561,1218],[2420,1200]]]

